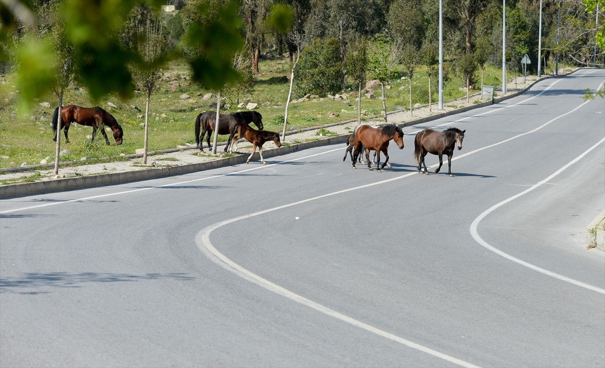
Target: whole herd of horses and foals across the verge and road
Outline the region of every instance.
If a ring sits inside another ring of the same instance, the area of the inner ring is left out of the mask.
[[[53,140],[57,139],[57,125],[59,120],[59,107],[54,110],[52,126],[54,132]],[[210,145],[210,137],[212,132],[216,134],[226,135],[229,134],[227,145],[224,148],[225,152],[237,152],[237,140],[244,138],[248,142],[252,143],[252,154],[246,160],[246,163],[250,162],[253,154],[259,149],[261,162],[267,164],[263,159],[263,145],[266,142],[272,141],[276,146],[281,147],[280,135],[271,131],[264,131],[263,127],[263,116],[257,111],[240,111],[238,113],[231,114],[220,114],[219,129],[216,130],[217,113],[215,111],[204,111],[199,114],[195,119],[195,142],[197,148],[201,152],[204,151],[203,143],[204,137],[208,143],[208,149],[212,147]],[[103,137],[105,137],[105,143],[110,145],[110,141],[105,133],[105,128],[108,127],[113,131],[113,137],[116,140],[116,144],[120,145],[123,142],[123,130],[122,127],[117,123],[116,119],[107,111],[100,107],[79,107],[75,105],[66,105],[61,110],[61,126],[59,130],[64,129],[65,141],[69,143],[69,137],[67,132],[70,128],[71,123],[78,123],[87,127],[93,127],[93,136],[96,135],[96,131],[100,129]],[[254,123],[258,130],[250,127],[250,123]],[[418,164],[418,171],[423,174],[422,166],[424,165],[424,174],[428,174],[427,164],[425,163],[425,156],[427,154],[434,154],[439,156],[439,167],[435,170],[435,173],[439,173],[441,166],[443,165],[443,155],[448,157],[448,174],[453,176],[451,173],[451,159],[454,154],[454,147],[457,145],[458,150],[462,150],[462,140],[464,139],[464,133],[466,130],[459,130],[457,128],[449,128],[445,131],[435,131],[432,129],[425,129],[416,134],[414,139],[414,159]],[[355,169],[355,163],[361,163],[366,165],[362,156],[365,153],[365,159],[367,161],[368,169],[372,170],[372,162],[370,162],[370,152],[374,151],[374,160],[376,162],[376,170],[381,172],[385,166],[391,167],[388,162],[388,143],[393,140],[399,146],[400,150],[404,148],[404,132],[401,128],[394,124],[382,124],[378,127],[372,127],[370,124],[362,123],[355,127],[355,131],[348,137],[347,151],[345,151],[343,161],[347,159],[347,154],[350,155],[351,161],[353,162],[353,169]],[[381,153],[384,154],[385,160],[380,165]]]

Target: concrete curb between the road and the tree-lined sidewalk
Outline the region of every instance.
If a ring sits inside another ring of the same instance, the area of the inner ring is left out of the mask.
[[[571,74],[571,73],[570,73]],[[569,75],[569,74],[567,74]],[[549,78],[553,76],[545,76],[545,78]],[[543,78],[544,79],[544,78]],[[431,120],[437,120],[442,117],[451,116],[454,114],[465,113],[469,110],[474,110],[476,108],[486,107],[492,104],[497,104],[498,102],[502,102],[503,100],[511,99],[512,97],[519,96],[520,94],[525,93],[529,90],[534,84],[539,82],[542,79],[535,80],[534,83],[526,87],[521,91],[517,91],[509,96],[499,97],[494,99],[493,101],[482,102],[481,104],[476,104],[473,106],[467,106],[463,108],[459,108],[457,110],[447,111],[445,113],[435,114],[432,116],[422,117],[420,119],[410,120],[405,123],[398,124],[399,127],[409,127],[410,125],[421,124],[425,122],[429,122]],[[392,111],[391,113],[396,113],[399,111]],[[390,114],[390,113],[387,113]],[[339,123],[329,124],[330,126],[338,125]],[[313,128],[317,129],[317,127]],[[275,157],[281,156],[283,154],[289,154],[300,150],[307,150],[309,148],[315,148],[319,146],[326,145],[335,145],[340,143],[345,143],[348,140],[348,134],[337,137],[330,137],[319,139],[313,142],[305,142],[293,144],[291,146],[282,146],[281,148],[273,148],[272,150],[264,150],[264,157]],[[173,148],[171,152],[177,152],[183,150],[183,148]],[[151,153],[150,153],[151,154]],[[142,156],[142,155],[128,155],[130,156]],[[91,175],[91,176],[82,176],[82,177],[72,177],[65,179],[56,179],[56,180],[48,180],[45,182],[33,182],[33,183],[19,183],[19,184],[10,184],[10,185],[2,185],[0,186],[0,200],[2,199],[11,199],[17,197],[25,197],[27,195],[37,195],[37,194],[47,194],[53,192],[62,192],[62,191],[72,191],[76,189],[87,189],[87,188],[95,188],[98,186],[107,186],[107,185],[118,185],[132,182],[139,182],[142,180],[151,180],[151,179],[160,179],[163,177],[169,176],[177,176],[189,173],[195,173],[197,171],[204,171],[208,169],[220,168],[223,166],[231,166],[231,165],[239,165],[241,163],[246,162],[248,154],[241,154],[234,157],[225,157],[223,159],[212,160],[208,162],[201,163],[191,163],[188,165],[181,166],[171,166],[171,167],[163,167],[163,168],[150,168],[138,171],[126,171],[125,173],[109,173],[109,174],[99,174],[99,175]],[[252,160],[258,161],[260,160],[260,155],[257,153],[254,154]],[[33,165],[38,166],[38,165]],[[43,166],[43,165],[40,165]]]

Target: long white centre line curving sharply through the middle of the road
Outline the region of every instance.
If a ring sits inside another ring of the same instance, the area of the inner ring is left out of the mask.
[[[584,102],[584,104],[581,104],[579,107],[575,108],[574,110],[569,111],[569,113],[571,113],[571,112],[573,112],[575,110],[578,110],[578,108],[582,107],[585,104],[586,104],[586,102]],[[565,116],[565,115],[567,115],[569,113],[563,114],[563,115],[561,115],[559,117]],[[532,130],[529,133],[533,133],[533,132],[535,132],[535,131],[543,128],[543,127],[546,127],[546,125],[548,125],[549,123],[553,122],[554,120],[557,120],[559,117],[556,117],[555,119],[552,119],[548,123],[545,123],[545,124],[541,125],[540,127]],[[526,134],[529,134],[529,133],[526,133]],[[506,139],[506,140],[504,140],[504,141],[502,141],[500,143],[508,142],[509,140],[515,139],[515,138],[523,136],[523,135],[525,135],[525,134],[519,134],[518,136],[515,136],[515,137],[513,137],[511,139]],[[603,139],[603,140],[605,140],[605,139]],[[599,142],[598,144],[602,143],[603,140],[601,140],[601,142]],[[497,143],[495,145],[498,145],[500,143]],[[490,146],[495,146],[495,145],[490,145]],[[488,146],[488,147],[490,147],[490,146]],[[595,146],[597,146],[597,145],[595,145]],[[471,151],[468,154],[456,157],[454,159],[468,156],[469,154],[473,154],[473,153],[482,151],[483,149],[484,148],[479,149],[479,150]],[[592,148],[591,148],[591,150],[592,150]],[[589,151],[587,151],[587,152],[589,152]],[[586,153],[584,153],[584,154],[586,154]],[[581,157],[583,157],[583,156],[581,156]],[[576,160],[579,160],[581,157],[578,157]],[[574,163],[574,162],[572,162],[572,163]],[[569,165],[571,165],[571,163]],[[434,167],[437,167],[437,164],[429,166],[429,167],[432,169]],[[253,212],[252,214],[246,214],[246,215],[241,215],[239,217],[230,218],[228,220],[224,220],[224,221],[215,223],[214,225],[207,226],[206,228],[204,228],[200,232],[198,232],[195,235],[195,245],[197,245],[198,249],[200,249],[200,251],[203,252],[204,255],[206,255],[206,257],[208,257],[214,263],[217,263],[219,266],[223,267],[227,271],[233,272],[235,275],[238,275],[238,276],[244,278],[245,280],[248,280],[248,281],[250,281],[252,283],[255,283],[258,286],[264,287],[265,289],[267,289],[267,290],[269,290],[271,292],[275,292],[278,295],[282,295],[283,297],[286,297],[286,298],[289,298],[290,300],[296,301],[296,303],[300,303],[300,304],[303,304],[305,306],[311,307],[311,308],[313,308],[315,310],[318,310],[318,312],[321,312],[321,313],[323,313],[325,315],[329,315],[330,317],[337,318],[337,319],[339,319],[341,321],[344,321],[346,323],[352,324],[353,326],[360,327],[362,329],[365,329],[365,330],[368,330],[370,332],[376,333],[377,335],[380,335],[382,337],[385,337],[385,338],[388,338],[390,340],[396,341],[397,343],[404,344],[405,346],[411,347],[413,349],[417,349],[417,350],[420,350],[422,352],[428,353],[430,355],[437,356],[438,358],[442,358],[443,360],[450,361],[451,363],[454,363],[454,364],[458,364],[459,366],[474,367],[474,365],[471,364],[471,363],[468,363],[468,362],[463,361],[463,360],[459,360],[457,358],[454,358],[453,356],[446,355],[444,353],[437,352],[436,350],[433,350],[433,349],[430,349],[429,347],[425,347],[425,346],[422,346],[420,344],[414,343],[413,341],[405,340],[404,338],[398,337],[396,335],[393,335],[392,333],[385,332],[384,330],[378,329],[376,327],[373,327],[373,326],[370,326],[368,324],[365,324],[365,323],[363,323],[361,321],[355,320],[354,318],[348,317],[347,315],[344,315],[344,314],[341,314],[339,312],[336,312],[335,310],[330,309],[330,308],[325,307],[325,306],[322,306],[321,304],[316,303],[315,301],[309,300],[307,298],[302,297],[301,295],[298,295],[298,294],[296,294],[294,292],[291,292],[291,291],[289,291],[287,289],[284,289],[284,287],[278,286],[278,285],[272,283],[271,281],[266,280],[266,279],[258,276],[257,274],[254,274],[253,272],[248,271],[247,269],[243,268],[242,266],[240,266],[239,264],[235,263],[231,259],[227,258],[224,254],[222,254],[221,252],[219,252],[214,247],[214,245],[212,245],[212,242],[210,241],[210,234],[212,233],[212,231],[214,231],[215,229],[220,228],[221,226],[228,225],[230,223],[234,223],[234,222],[237,222],[239,220],[243,220],[244,218],[255,217],[255,216],[258,216],[258,215],[261,215],[261,214],[266,214],[268,212],[277,211],[278,209],[283,209],[283,208],[288,208],[288,207],[291,207],[291,206],[296,206],[296,205],[299,205],[301,203],[306,203],[306,202],[310,202],[312,200],[322,199],[322,198],[325,198],[325,197],[329,197],[329,196],[336,195],[336,194],[341,194],[341,193],[344,193],[344,192],[355,191],[357,189],[368,188],[368,187],[374,186],[374,185],[381,185],[383,183],[393,182],[394,180],[403,179],[405,177],[409,177],[409,176],[413,176],[413,175],[417,175],[417,173],[414,171],[413,173],[408,173],[408,174],[405,174],[405,175],[402,175],[402,176],[398,176],[398,177],[394,177],[394,178],[387,179],[387,180],[381,180],[380,182],[375,182],[375,183],[370,183],[370,184],[366,184],[366,185],[356,186],[354,188],[343,189],[341,191],[336,191],[336,192],[332,192],[332,193],[328,193],[328,194],[318,195],[317,197],[313,197],[313,198],[309,198],[309,199],[299,200],[297,202],[289,203],[287,205],[281,205],[281,206],[265,209],[263,211]],[[517,258],[514,258],[514,259],[517,260]],[[518,260],[518,261],[520,261],[520,260]],[[520,262],[523,262],[523,261],[520,261]],[[558,274],[555,274],[554,272],[550,272],[550,271],[547,271],[547,270],[544,270],[544,269],[540,269],[540,270],[549,272],[548,273],[549,275],[558,275]],[[590,285],[581,283],[580,281],[573,280],[571,278],[567,278],[567,277],[564,277],[564,276],[561,276],[561,275],[558,275],[558,276],[562,277],[561,280],[566,280],[566,281],[567,280],[572,280],[572,281],[575,281],[575,284],[578,284],[580,286],[584,286],[584,287],[590,286]],[[594,286],[592,286],[592,287],[594,287]],[[598,287],[597,287],[597,289],[598,289]]]

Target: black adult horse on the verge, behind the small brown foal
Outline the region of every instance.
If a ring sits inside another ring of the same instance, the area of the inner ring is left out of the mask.
[[[204,136],[206,132],[208,132],[208,138],[206,142],[208,143],[208,149],[211,150],[210,146],[210,136],[212,132],[215,131],[215,122],[217,120],[216,111],[204,111],[199,114],[195,119],[195,143],[197,143],[200,151],[204,151],[203,142]],[[239,113],[231,113],[231,114],[221,114],[221,118],[218,122],[219,129],[218,134],[231,134],[234,128],[238,125],[238,123],[254,123],[259,130],[263,130],[263,116],[257,111],[240,111]],[[201,133],[200,133],[201,131]],[[229,136],[229,142],[231,142],[233,135]],[[229,145],[225,146],[225,151]]]

